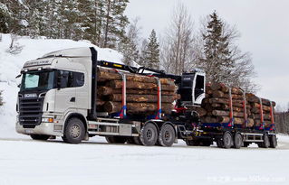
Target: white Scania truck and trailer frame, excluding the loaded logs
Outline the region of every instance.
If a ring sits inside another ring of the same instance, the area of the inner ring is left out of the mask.
[[[126,76],[122,75],[121,113],[112,116],[98,112],[96,79],[97,67],[100,66],[115,69],[120,74],[126,71],[153,76],[158,82],[159,78],[173,79],[180,95],[175,110],[169,115],[162,113],[161,85],[158,83],[156,114],[150,117],[127,115]],[[197,111],[190,108],[201,106],[205,97],[206,75],[200,69],[190,69],[180,76],[170,75],[162,70],[97,60],[97,51],[87,47],[54,51],[37,60],[27,61],[17,77],[21,76],[16,131],[28,134],[35,140],[61,136],[66,143],[81,143],[82,140],[89,140],[89,137],[101,135],[109,143],[148,146],[171,146],[178,139],[188,145],[209,146],[216,142],[221,148],[246,147],[250,143],[275,148],[277,144],[274,126],[256,129],[234,125],[232,108],[229,123],[201,123]],[[273,108],[271,114],[273,117]],[[244,116],[246,119],[246,113]]]

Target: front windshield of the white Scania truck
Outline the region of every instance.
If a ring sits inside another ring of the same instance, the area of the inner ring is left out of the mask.
[[[28,71],[24,73],[21,91],[26,90],[49,90],[55,87],[54,71]]]

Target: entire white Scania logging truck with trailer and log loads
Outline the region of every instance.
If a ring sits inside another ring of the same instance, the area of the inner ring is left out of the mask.
[[[25,62],[16,77],[22,77],[17,133],[34,140],[59,136],[65,143],[100,135],[109,143],[147,146],[171,146],[181,139],[190,146],[276,147],[272,102],[257,99],[257,116],[252,114],[257,121],[250,125],[248,111],[255,107],[246,105],[248,96],[239,88],[206,85],[201,69],[171,75],[98,60],[97,55],[94,48],[74,48]],[[209,112],[207,104],[218,110]],[[265,118],[270,119],[266,126]]]

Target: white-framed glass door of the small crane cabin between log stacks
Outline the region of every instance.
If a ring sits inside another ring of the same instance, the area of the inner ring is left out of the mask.
[[[194,83],[194,104],[201,105],[203,98],[205,98],[205,88],[206,88],[205,75],[196,74]]]

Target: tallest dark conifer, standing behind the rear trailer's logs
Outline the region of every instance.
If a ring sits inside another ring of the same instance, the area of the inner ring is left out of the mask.
[[[224,35],[224,23],[216,12],[209,15],[207,32],[203,34],[205,58],[201,59],[207,72],[207,80],[227,83],[234,68],[228,36]]]

